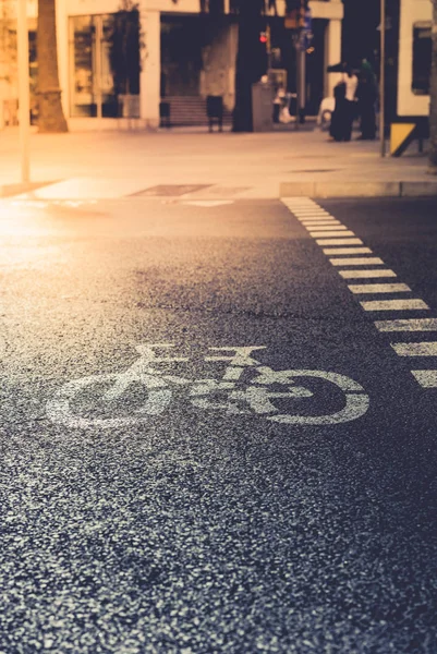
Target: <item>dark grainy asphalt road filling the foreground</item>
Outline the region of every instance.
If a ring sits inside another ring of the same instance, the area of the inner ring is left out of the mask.
[[[286,204],[1,204],[2,654],[437,652],[437,202]]]

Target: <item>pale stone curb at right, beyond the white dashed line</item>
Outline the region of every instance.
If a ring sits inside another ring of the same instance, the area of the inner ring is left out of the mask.
[[[280,197],[429,197],[437,182],[281,182]]]

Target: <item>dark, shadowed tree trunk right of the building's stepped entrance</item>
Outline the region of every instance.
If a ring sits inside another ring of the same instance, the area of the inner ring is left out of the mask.
[[[259,8],[253,0],[240,0],[239,49],[235,64],[233,132],[253,132],[252,84],[259,78]]]

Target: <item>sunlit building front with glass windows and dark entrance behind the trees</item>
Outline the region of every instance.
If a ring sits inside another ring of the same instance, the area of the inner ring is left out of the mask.
[[[134,117],[139,128],[157,129],[163,100],[179,108],[182,123],[193,122],[207,95],[221,95],[224,109],[232,110],[238,25],[229,12],[229,0],[224,0],[224,15],[214,20],[201,14],[199,0],[138,0],[145,48],[141,51],[141,71],[129,84],[133,97],[128,108],[123,99],[121,110],[110,60],[111,26],[120,4],[120,0],[57,0],[60,86],[70,129],[95,129],[96,121],[104,128],[117,128],[120,111]],[[316,113],[335,83],[326,66],[341,58],[343,4],[341,0],[312,0],[309,5],[315,37],[307,56],[307,95],[308,112]],[[292,92],[295,52],[291,32],[284,28],[281,0],[278,10],[279,17],[268,17],[272,35],[269,63],[286,71]],[[36,14],[37,0],[28,0],[33,45]],[[13,97],[15,89],[13,80],[0,87],[3,98]]]

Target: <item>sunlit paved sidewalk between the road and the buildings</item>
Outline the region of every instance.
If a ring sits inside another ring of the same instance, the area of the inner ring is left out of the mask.
[[[0,194],[23,193],[17,130],[1,132],[0,144]],[[381,159],[377,142],[331,143],[318,130],[34,133],[26,197],[437,195],[437,178],[426,170],[416,144],[399,159]]]

